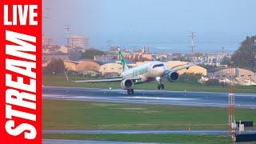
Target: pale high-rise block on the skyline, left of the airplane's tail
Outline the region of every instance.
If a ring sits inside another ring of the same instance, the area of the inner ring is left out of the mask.
[[[90,38],[74,35],[69,38],[69,44],[72,49],[81,49],[82,51],[85,51],[90,48]]]

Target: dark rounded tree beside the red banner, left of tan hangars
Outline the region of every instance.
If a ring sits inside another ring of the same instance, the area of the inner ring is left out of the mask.
[[[64,70],[65,65],[62,59],[53,58],[43,71],[46,74],[59,74],[63,73]]]

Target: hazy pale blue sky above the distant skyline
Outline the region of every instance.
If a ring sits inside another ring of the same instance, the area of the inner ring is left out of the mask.
[[[43,0],[43,32],[65,44],[70,34],[90,37],[90,46],[150,46],[162,50],[235,50],[256,34],[255,0]]]

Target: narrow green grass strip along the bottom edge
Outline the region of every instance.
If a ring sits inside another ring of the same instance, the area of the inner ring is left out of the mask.
[[[124,142],[232,143],[231,138],[218,135],[179,134],[43,134],[43,138],[80,139]]]

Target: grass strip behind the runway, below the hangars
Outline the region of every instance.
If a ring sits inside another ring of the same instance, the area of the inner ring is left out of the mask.
[[[70,77],[70,79],[85,79],[84,77]],[[106,88],[120,89],[120,82],[66,82],[64,75],[44,75],[44,86],[78,86],[78,87],[94,87],[94,88]],[[135,85],[134,89],[141,90],[157,90],[157,82],[148,82],[141,85]],[[185,83],[185,82],[165,82],[165,90],[175,91],[207,91],[207,92],[227,92],[226,86],[206,86],[200,83]],[[256,86],[236,86],[236,93],[256,93]]]

